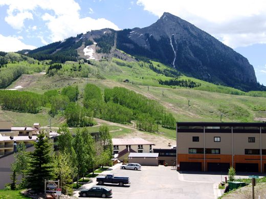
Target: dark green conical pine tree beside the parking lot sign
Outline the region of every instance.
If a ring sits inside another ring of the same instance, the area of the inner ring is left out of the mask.
[[[53,164],[51,157],[51,144],[46,133],[42,131],[37,135],[38,141],[34,142],[35,150],[30,153],[29,169],[27,171],[27,188],[43,191],[45,179],[53,180]]]

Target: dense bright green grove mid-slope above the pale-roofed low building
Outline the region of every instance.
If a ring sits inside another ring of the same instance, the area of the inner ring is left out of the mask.
[[[94,117],[119,123],[137,120],[140,130],[158,131],[159,124],[169,129],[175,128],[174,117],[166,114],[162,105],[126,88],[105,89],[102,97],[99,87],[87,84],[83,104]]]

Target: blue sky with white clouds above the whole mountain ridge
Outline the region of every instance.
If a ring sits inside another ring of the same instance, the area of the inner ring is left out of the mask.
[[[33,49],[101,28],[146,27],[179,16],[247,57],[266,85],[266,1],[0,0],[0,51]]]

